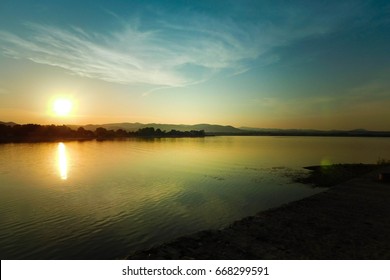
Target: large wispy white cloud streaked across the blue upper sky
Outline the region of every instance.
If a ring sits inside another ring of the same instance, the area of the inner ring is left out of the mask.
[[[0,31],[0,48],[5,55],[82,77],[154,88],[183,87],[221,72],[227,76],[246,72],[256,61],[273,63],[273,48],[332,28],[320,17],[307,22],[302,15],[302,20],[296,20],[295,12],[282,15],[282,23],[272,24],[186,13],[158,18],[148,28],[123,21],[118,30],[105,33],[29,23],[27,36]]]

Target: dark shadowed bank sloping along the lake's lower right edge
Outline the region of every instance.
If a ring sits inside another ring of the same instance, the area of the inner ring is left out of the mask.
[[[390,259],[390,184],[382,168],[222,230],[181,237],[129,259]]]

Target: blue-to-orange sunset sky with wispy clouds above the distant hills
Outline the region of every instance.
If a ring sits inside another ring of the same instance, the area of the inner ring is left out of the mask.
[[[0,121],[390,130],[389,77],[389,1],[0,1]]]

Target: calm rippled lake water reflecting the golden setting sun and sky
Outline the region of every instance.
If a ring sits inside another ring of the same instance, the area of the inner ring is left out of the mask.
[[[1,259],[112,259],[321,190],[302,166],[390,159],[389,138],[0,145]]]

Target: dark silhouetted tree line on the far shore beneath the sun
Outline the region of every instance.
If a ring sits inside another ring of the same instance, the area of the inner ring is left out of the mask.
[[[38,142],[55,140],[91,140],[91,139],[115,139],[115,138],[163,138],[163,137],[204,137],[204,130],[191,131],[162,131],[153,127],[140,128],[137,131],[123,129],[108,130],[98,127],[95,131],[79,127],[76,130],[65,125],[5,125],[0,124],[0,142]]]

